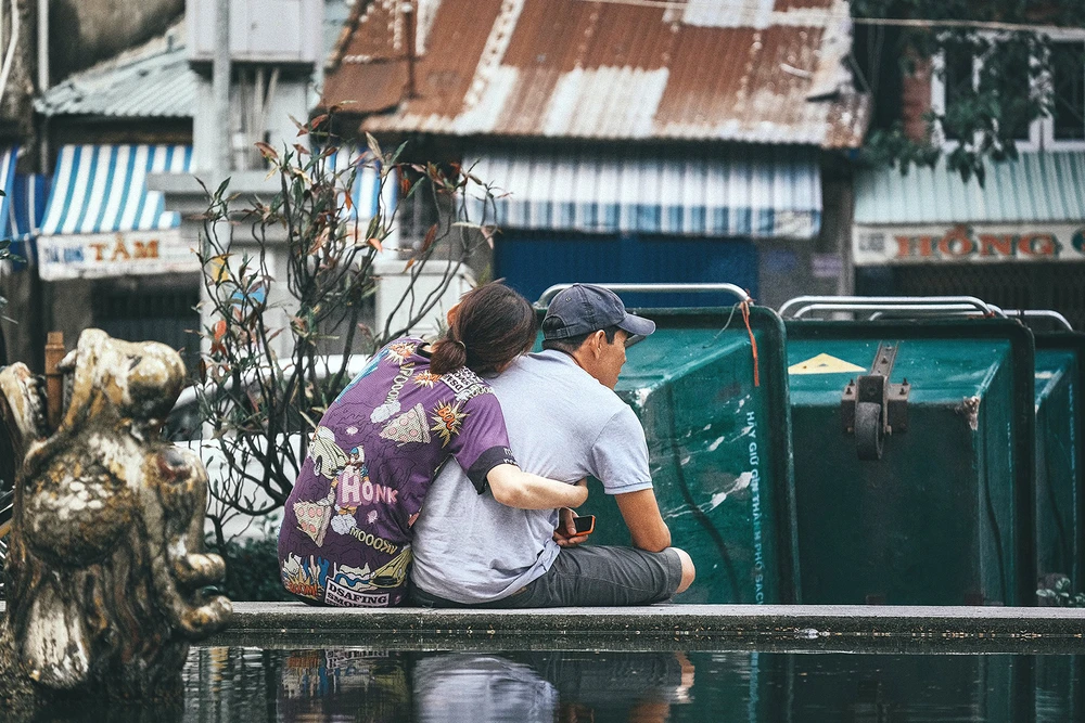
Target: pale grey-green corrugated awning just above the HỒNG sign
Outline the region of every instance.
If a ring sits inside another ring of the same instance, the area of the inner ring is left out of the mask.
[[[1021,153],[986,163],[981,186],[944,162],[868,169],[855,179],[855,223],[1058,222],[1085,220],[1085,152]]]

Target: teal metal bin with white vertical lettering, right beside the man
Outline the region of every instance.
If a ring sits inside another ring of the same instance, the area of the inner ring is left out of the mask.
[[[636,313],[658,328],[629,347],[615,391],[644,425],[673,544],[697,566],[676,602],[800,602],[780,318],[750,309],[755,363],[737,308]],[[595,490],[578,511],[597,516],[590,543],[630,544],[613,498]]]

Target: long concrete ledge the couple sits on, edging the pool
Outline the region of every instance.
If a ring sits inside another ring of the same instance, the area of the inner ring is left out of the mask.
[[[237,603],[231,629],[208,644],[1085,654],[1085,610],[817,605],[432,610]]]

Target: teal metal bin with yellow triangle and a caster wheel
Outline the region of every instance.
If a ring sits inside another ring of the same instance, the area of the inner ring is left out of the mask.
[[[1032,333],[1000,319],[787,328],[803,602],[1034,605]],[[845,390],[886,348],[905,418],[860,460]]]

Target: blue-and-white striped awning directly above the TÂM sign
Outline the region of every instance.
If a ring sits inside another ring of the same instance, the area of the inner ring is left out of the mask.
[[[188,145],[65,145],[56,159],[42,235],[162,231],[180,225],[148,173],[192,170]]]

